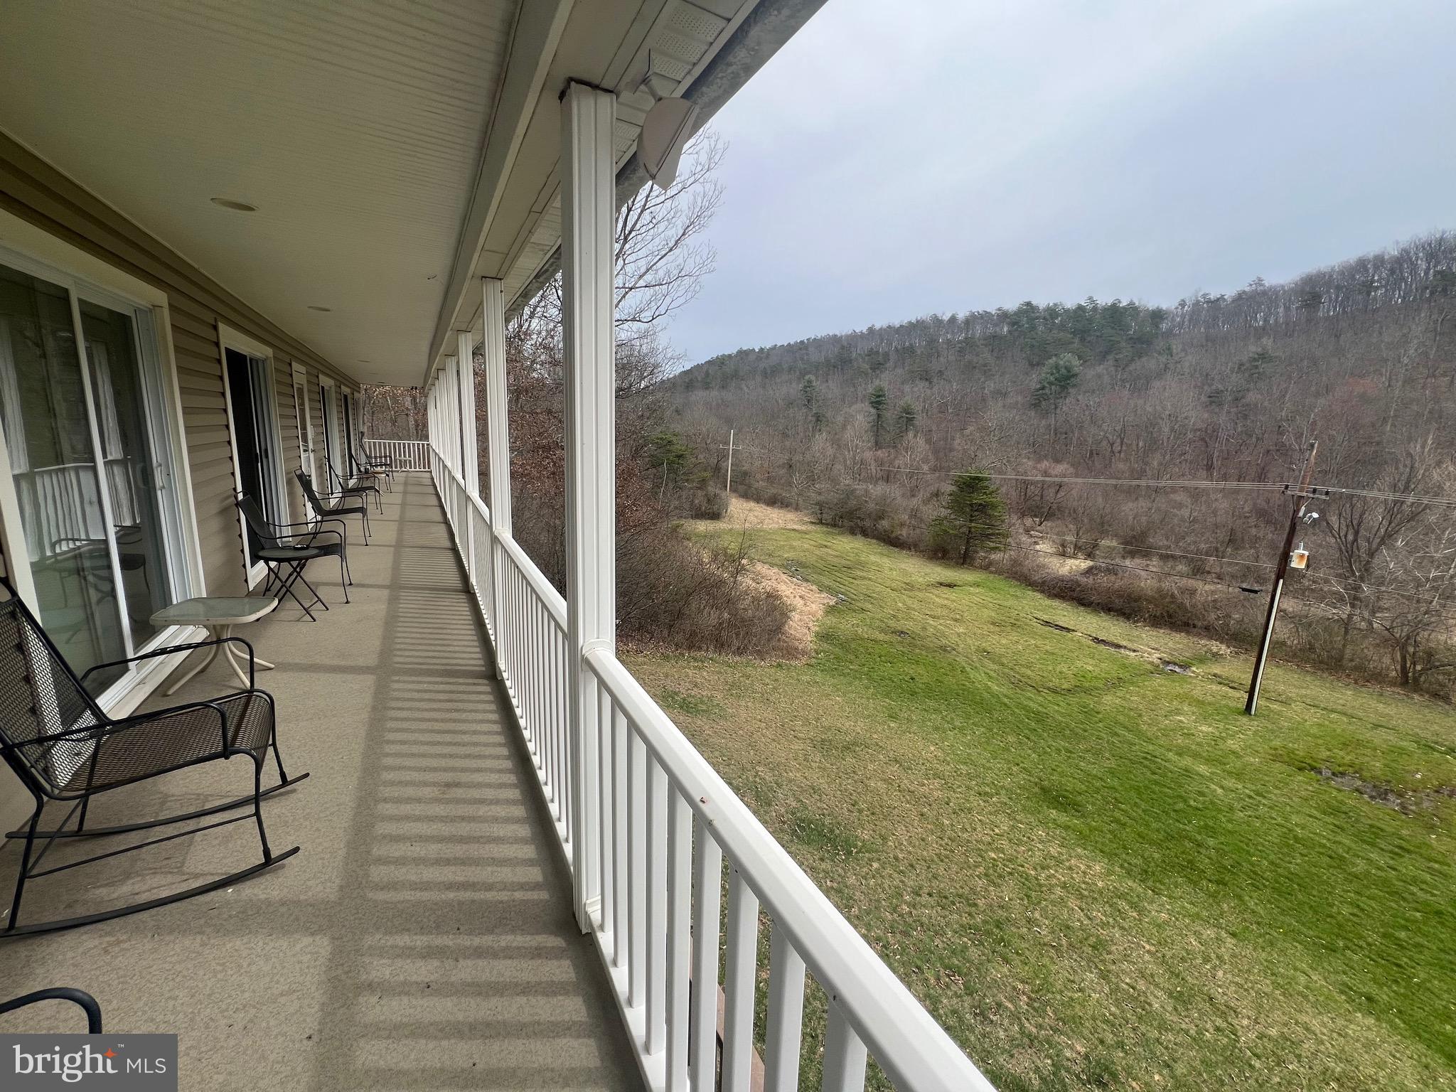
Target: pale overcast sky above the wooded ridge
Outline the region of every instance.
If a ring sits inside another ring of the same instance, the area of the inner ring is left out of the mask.
[[[1456,227],[1456,0],[828,0],[718,114],[687,363]]]

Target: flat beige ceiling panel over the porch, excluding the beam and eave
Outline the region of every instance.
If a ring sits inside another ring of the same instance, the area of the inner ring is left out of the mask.
[[[339,367],[414,383],[515,9],[7,0],[0,128]]]

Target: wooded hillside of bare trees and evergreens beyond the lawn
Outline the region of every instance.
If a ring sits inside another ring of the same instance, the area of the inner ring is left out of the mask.
[[[1318,440],[1322,485],[1456,496],[1453,313],[1456,234],[1439,232],[1169,307],[1028,301],[740,349],[664,390],[719,482],[735,430],[744,496],[923,549],[949,475],[1003,475],[1018,575],[1045,575],[1035,552],[1121,566],[1125,594],[1073,596],[1109,609],[1147,598],[1136,569],[1200,581],[1227,596],[1179,593],[1188,604],[1150,616],[1241,642],[1261,612],[1238,588],[1267,584],[1287,520],[1277,489],[1040,479],[1283,483]],[[1456,508],[1340,495],[1319,510],[1281,651],[1449,693]]]

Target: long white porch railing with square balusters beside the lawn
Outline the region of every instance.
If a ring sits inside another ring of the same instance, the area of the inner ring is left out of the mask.
[[[748,1092],[761,911],[770,929],[769,1092],[798,1088],[805,974],[828,996],[824,1089],[862,1089],[872,1056],[900,1092],[990,1092],[941,1025],[603,648],[585,654],[603,715],[598,769],[591,772],[598,791],[584,798],[598,807],[593,815],[571,814],[566,603],[510,536],[492,536],[485,504],[432,447],[431,476],[568,868],[574,830],[600,860],[591,933],[648,1088],[715,1088],[725,938],[721,1088]]]

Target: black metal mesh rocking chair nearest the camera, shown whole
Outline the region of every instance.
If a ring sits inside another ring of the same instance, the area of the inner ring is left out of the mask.
[[[6,834],[7,839],[23,839],[25,847],[20,852],[20,871],[15,881],[10,917],[6,920],[4,929],[0,929],[0,939],[73,929],[179,903],[183,898],[236,884],[298,852],[298,847],[294,846],[282,853],[274,853],[264,828],[264,796],[297,785],[309,775],[290,778],[284,772],[274,724],[274,699],[266,690],[253,686],[253,648],[250,644],[242,638],[220,638],[173,645],[125,660],[96,664],[84,674],[77,676],[10,582],[0,578],[0,587],[4,587],[10,596],[0,603],[0,756],[35,798],[35,811],[26,827]],[[236,642],[248,651],[246,690],[205,702],[188,702],[167,709],[132,713],[119,719],[106,716],[86,690],[84,680],[96,671],[220,645],[227,641]],[[274,761],[278,766],[278,783],[265,789],[264,763],[269,748],[272,748]],[[103,792],[234,756],[252,759],[253,791],[246,796],[179,815],[86,828],[86,811],[90,801]],[[70,804],[70,810],[57,827],[42,830],[42,812],[52,802]],[[252,805],[250,811],[245,811],[242,815],[204,823],[188,830],[41,869],[47,853],[57,842],[130,834],[249,805]],[[76,818],[74,827],[67,826],[71,818]],[[162,842],[199,834],[204,830],[214,830],[248,818],[256,821],[258,842],[262,846],[262,859],[248,868],[183,891],[111,910],[33,925],[22,925],[20,922],[26,881],[41,879],[122,853],[134,853]],[[36,852],[38,843],[44,843],[39,852]]]

